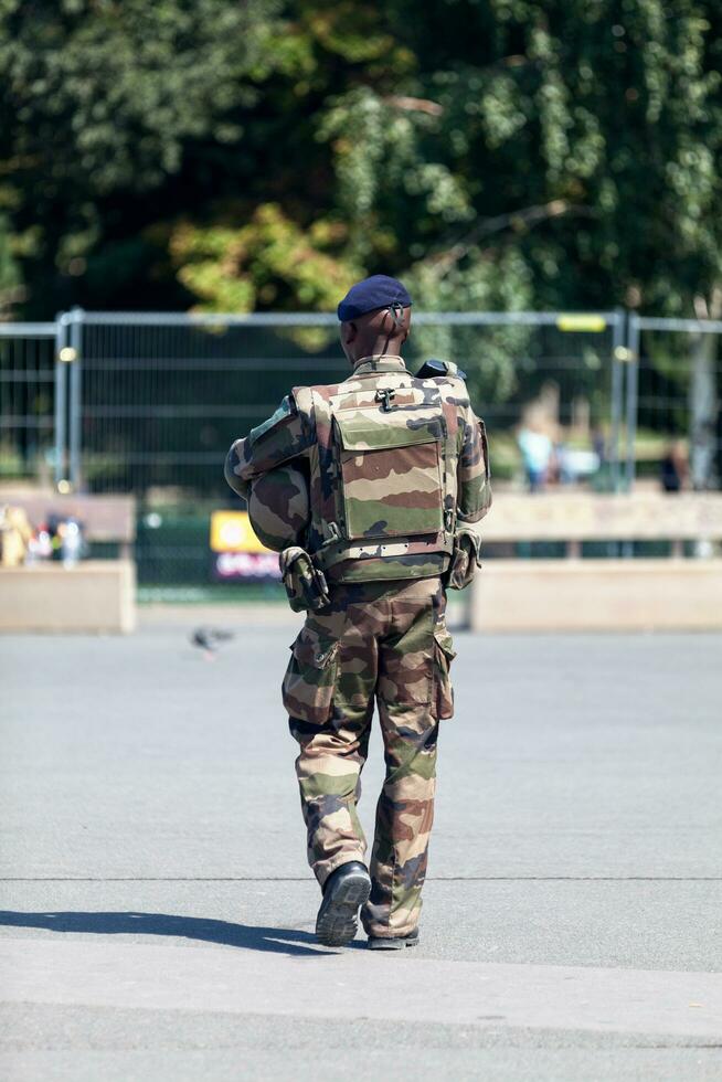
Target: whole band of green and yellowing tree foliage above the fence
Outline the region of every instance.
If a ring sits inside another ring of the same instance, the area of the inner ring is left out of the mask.
[[[0,291],[328,309],[386,272],[426,308],[692,315],[722,279],[721,23],[712,0],[0,0]]]

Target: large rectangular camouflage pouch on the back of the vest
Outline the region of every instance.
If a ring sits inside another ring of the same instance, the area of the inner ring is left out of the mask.
[[[403,402],[412,395],[400,389],[389,409],[340,410],[333,415],[341,510],[349,540],[444,530],[446,426],[440,405]]]

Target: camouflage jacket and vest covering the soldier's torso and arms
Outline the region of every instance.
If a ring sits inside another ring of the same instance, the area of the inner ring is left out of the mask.
[[[305,548],[330,581],[440,575],[457,523],[478,521],[491,502],[486,433],[466,384],[413,376],[400,357],[363,358],[342,383],[296,388],[233,444],[226,479],[245,495],[290,459],[309,470]]]

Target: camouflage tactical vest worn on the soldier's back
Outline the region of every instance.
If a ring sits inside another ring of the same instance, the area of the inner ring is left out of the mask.
[[[337,582],[446,571],[464,438],[459,406],[468,403],[464,382],[399,370],[293,394],[315,426],[308,551],[317,566]]]

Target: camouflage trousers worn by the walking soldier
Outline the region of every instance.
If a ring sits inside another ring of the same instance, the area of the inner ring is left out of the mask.
[[[357,804],[378,702],[386,774],[361,912],[374,936],[407,934],[421,912],[438,721],[454,710],[445,612],[439,579],[337,585],[330,606],[308,614],[284,678],[308,860],[321,887],[340,864],[365,858]]]

